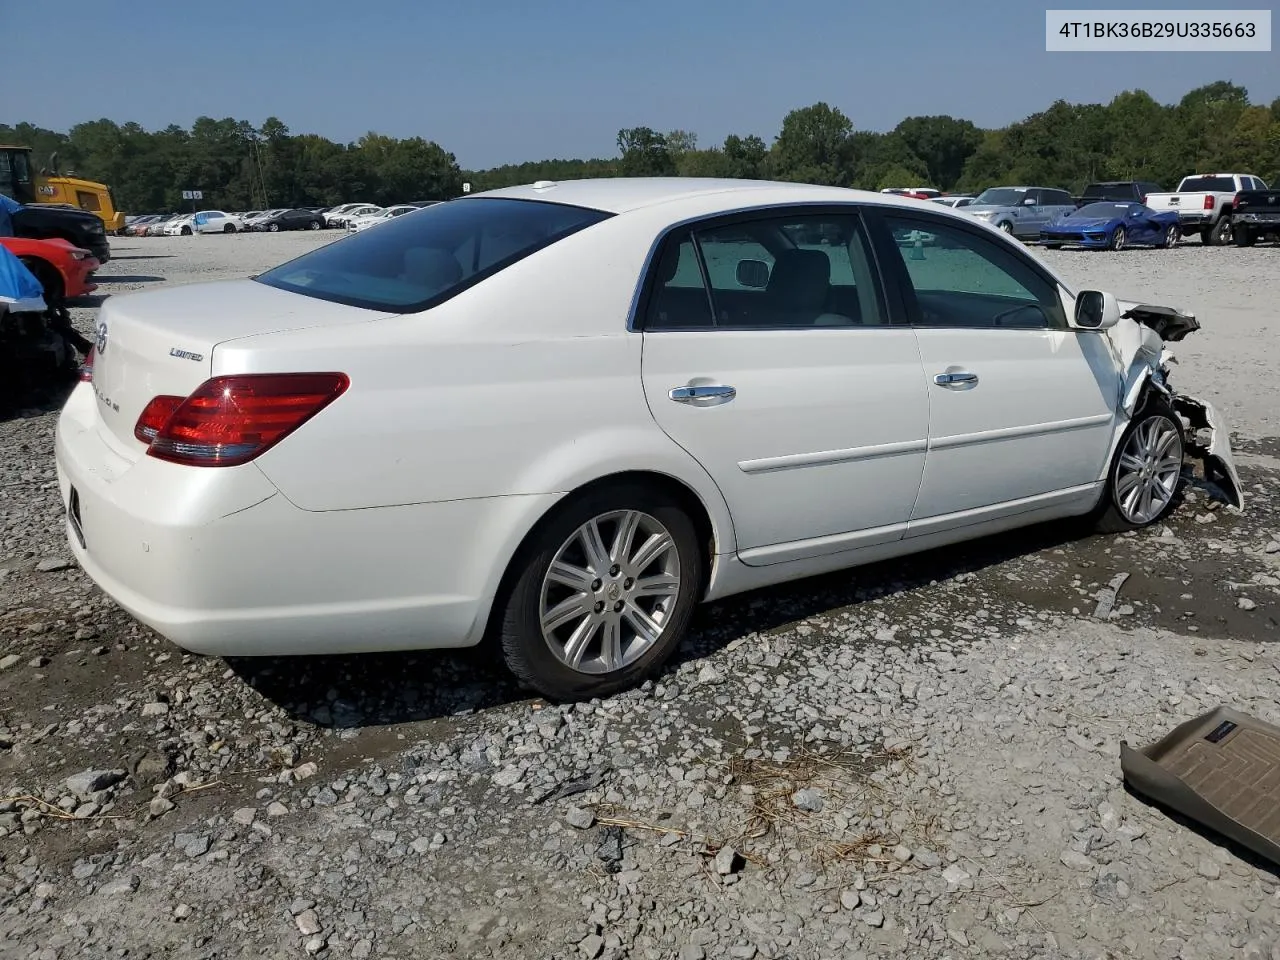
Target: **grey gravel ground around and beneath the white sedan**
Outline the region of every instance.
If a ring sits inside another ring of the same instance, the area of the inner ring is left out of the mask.
[[[100,293],[332,236],[118,239]],[[1245,513],[1192,479],[1142,534],[712,604],[604,703],[468,652],[182,654],[69,562],[54,403],[0,420],[0,957],[1280,960],[1280,874],[1117,759],[1219,704],[1280,722],[1280,253],[1043,256],[1199,314],[1178,381],[1231,417]]]

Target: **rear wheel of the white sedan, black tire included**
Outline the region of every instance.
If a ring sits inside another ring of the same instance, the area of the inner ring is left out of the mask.
[[[703,590],[685,508],[634,484],[554,513],[513,561],[495,613],[507,666],[549,700],[635,686],[680,645]]]

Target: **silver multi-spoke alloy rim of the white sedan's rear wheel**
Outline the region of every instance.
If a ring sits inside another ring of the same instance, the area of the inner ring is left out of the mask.
[[[625,509],[593,517],[570,535],[543,577],[543,639],[580,673],[613,673],[666,632],[680,599],[680,552],[658,520]]]

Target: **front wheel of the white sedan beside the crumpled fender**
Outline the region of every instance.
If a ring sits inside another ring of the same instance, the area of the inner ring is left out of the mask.
[[[1164,517],[1178,492],[1183,447],[1183,424],[1164,401],[1151,403],[1134,417],[1111,461],[1097,530],[1138,530]]]

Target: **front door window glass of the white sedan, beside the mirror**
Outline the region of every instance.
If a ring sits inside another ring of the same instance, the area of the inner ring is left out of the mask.
[[[942,221],[884,220],[915,293],[922,325],[1066,326],[1055,284],[1027,255]]]

